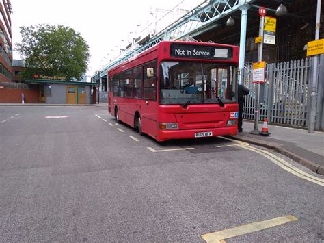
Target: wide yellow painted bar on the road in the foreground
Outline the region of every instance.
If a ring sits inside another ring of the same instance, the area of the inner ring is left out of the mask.
[[[202,238],[208,243],[225,242],[224,239],[232,238],[239,235],[245,235],[247,233],[253,233],[262,229],[268,229],[277,225],[285,224],[286,222],[293,222],[295,220],[297,220],[297,218],[295,218],[294,216],[287,215],[284,217],[273,218],[271,220],[252,222],[247,225],[241,225],[239,227],[234,227],[231,229],[224,229],[222,231],[217,231],[214,233],[206,233],[202,235]]]

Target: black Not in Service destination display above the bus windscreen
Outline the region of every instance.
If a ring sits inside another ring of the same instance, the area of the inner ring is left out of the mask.
[[[231,59],[233,49],[228,47],[196,46],[193,44],[171,44],[172,57],[187,57],[195,59]]]

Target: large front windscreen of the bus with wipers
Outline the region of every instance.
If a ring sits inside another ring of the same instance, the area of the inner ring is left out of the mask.
[[[161,62],[161,105],[216,104],[237,102],[237,68],[232,64]]]

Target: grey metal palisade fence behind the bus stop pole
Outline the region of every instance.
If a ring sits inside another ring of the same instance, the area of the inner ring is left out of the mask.
[[[260,90],[260,120],[297,127],[307,126],[309,85],[312,73],[312,57],[267,64],[265,84]],[[245,64],[244,84],[250,89],[245,97],[243,118],[254,119],[254,94],[252,63]]]

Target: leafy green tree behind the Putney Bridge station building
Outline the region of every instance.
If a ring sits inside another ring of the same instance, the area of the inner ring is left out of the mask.
[[[87,71],[89,46],[80,33],[63,25],[21,27],[16,51],[25,59],[24,78],[46,75],[81,79]]]

